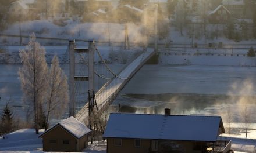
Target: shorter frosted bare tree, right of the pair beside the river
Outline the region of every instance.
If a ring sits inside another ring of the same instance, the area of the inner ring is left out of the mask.
[[[48,75],[48,94],[45,107],[45,130],[49,125],[49,118],[63,114],[69,102],[67,77],[61,67],[57,56],[52,59]]]

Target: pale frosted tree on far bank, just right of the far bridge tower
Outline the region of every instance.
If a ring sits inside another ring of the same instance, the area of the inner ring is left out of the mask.
[[[176,26],[180,30],[180,35],[183,35],[183,27],[187,22],[187,3],[184,0],[179,0],[175,9]]]

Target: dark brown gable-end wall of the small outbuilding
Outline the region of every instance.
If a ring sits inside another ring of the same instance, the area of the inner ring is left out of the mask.
[[[77,151],[77,140],[72,134],[56,126],[43,137],[44,151]],[[50,143],[50,140],[56,140],[56,143]],[[63,144],[63,140],[69,140],[69,144]]]

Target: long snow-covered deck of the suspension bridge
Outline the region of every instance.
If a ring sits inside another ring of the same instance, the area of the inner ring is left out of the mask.
[[[154,54],[154,49],[148,48],[147,51],[143,52],[134,61],[132,61],[127,67],[120,72],[119,78],[114,78],[107,82],[101,90],[99,90],[95,97],[98,104],[99,110],[104,110],[113,99],[117,96],[120,90],[126,85],[126,83],[133,77],[134,74],[150,59]],[[127,79],[123,79],[127,78]],[[84,122],[88,118],[88,103],[76,114],[76,118]]]

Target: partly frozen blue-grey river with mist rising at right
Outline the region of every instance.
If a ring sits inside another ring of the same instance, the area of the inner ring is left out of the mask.
[[[11,99],[13,115],[26,118],[19,67],[0,65],[0,111]],[[230,123],[230,133],[237,137],[244,137],[247,116],[248,137],[256,139],[255,76],[255,67],[144,65],[113,101],[110,111],[163,114],[169,107],[173,115],[218,115],[227,133]]]

